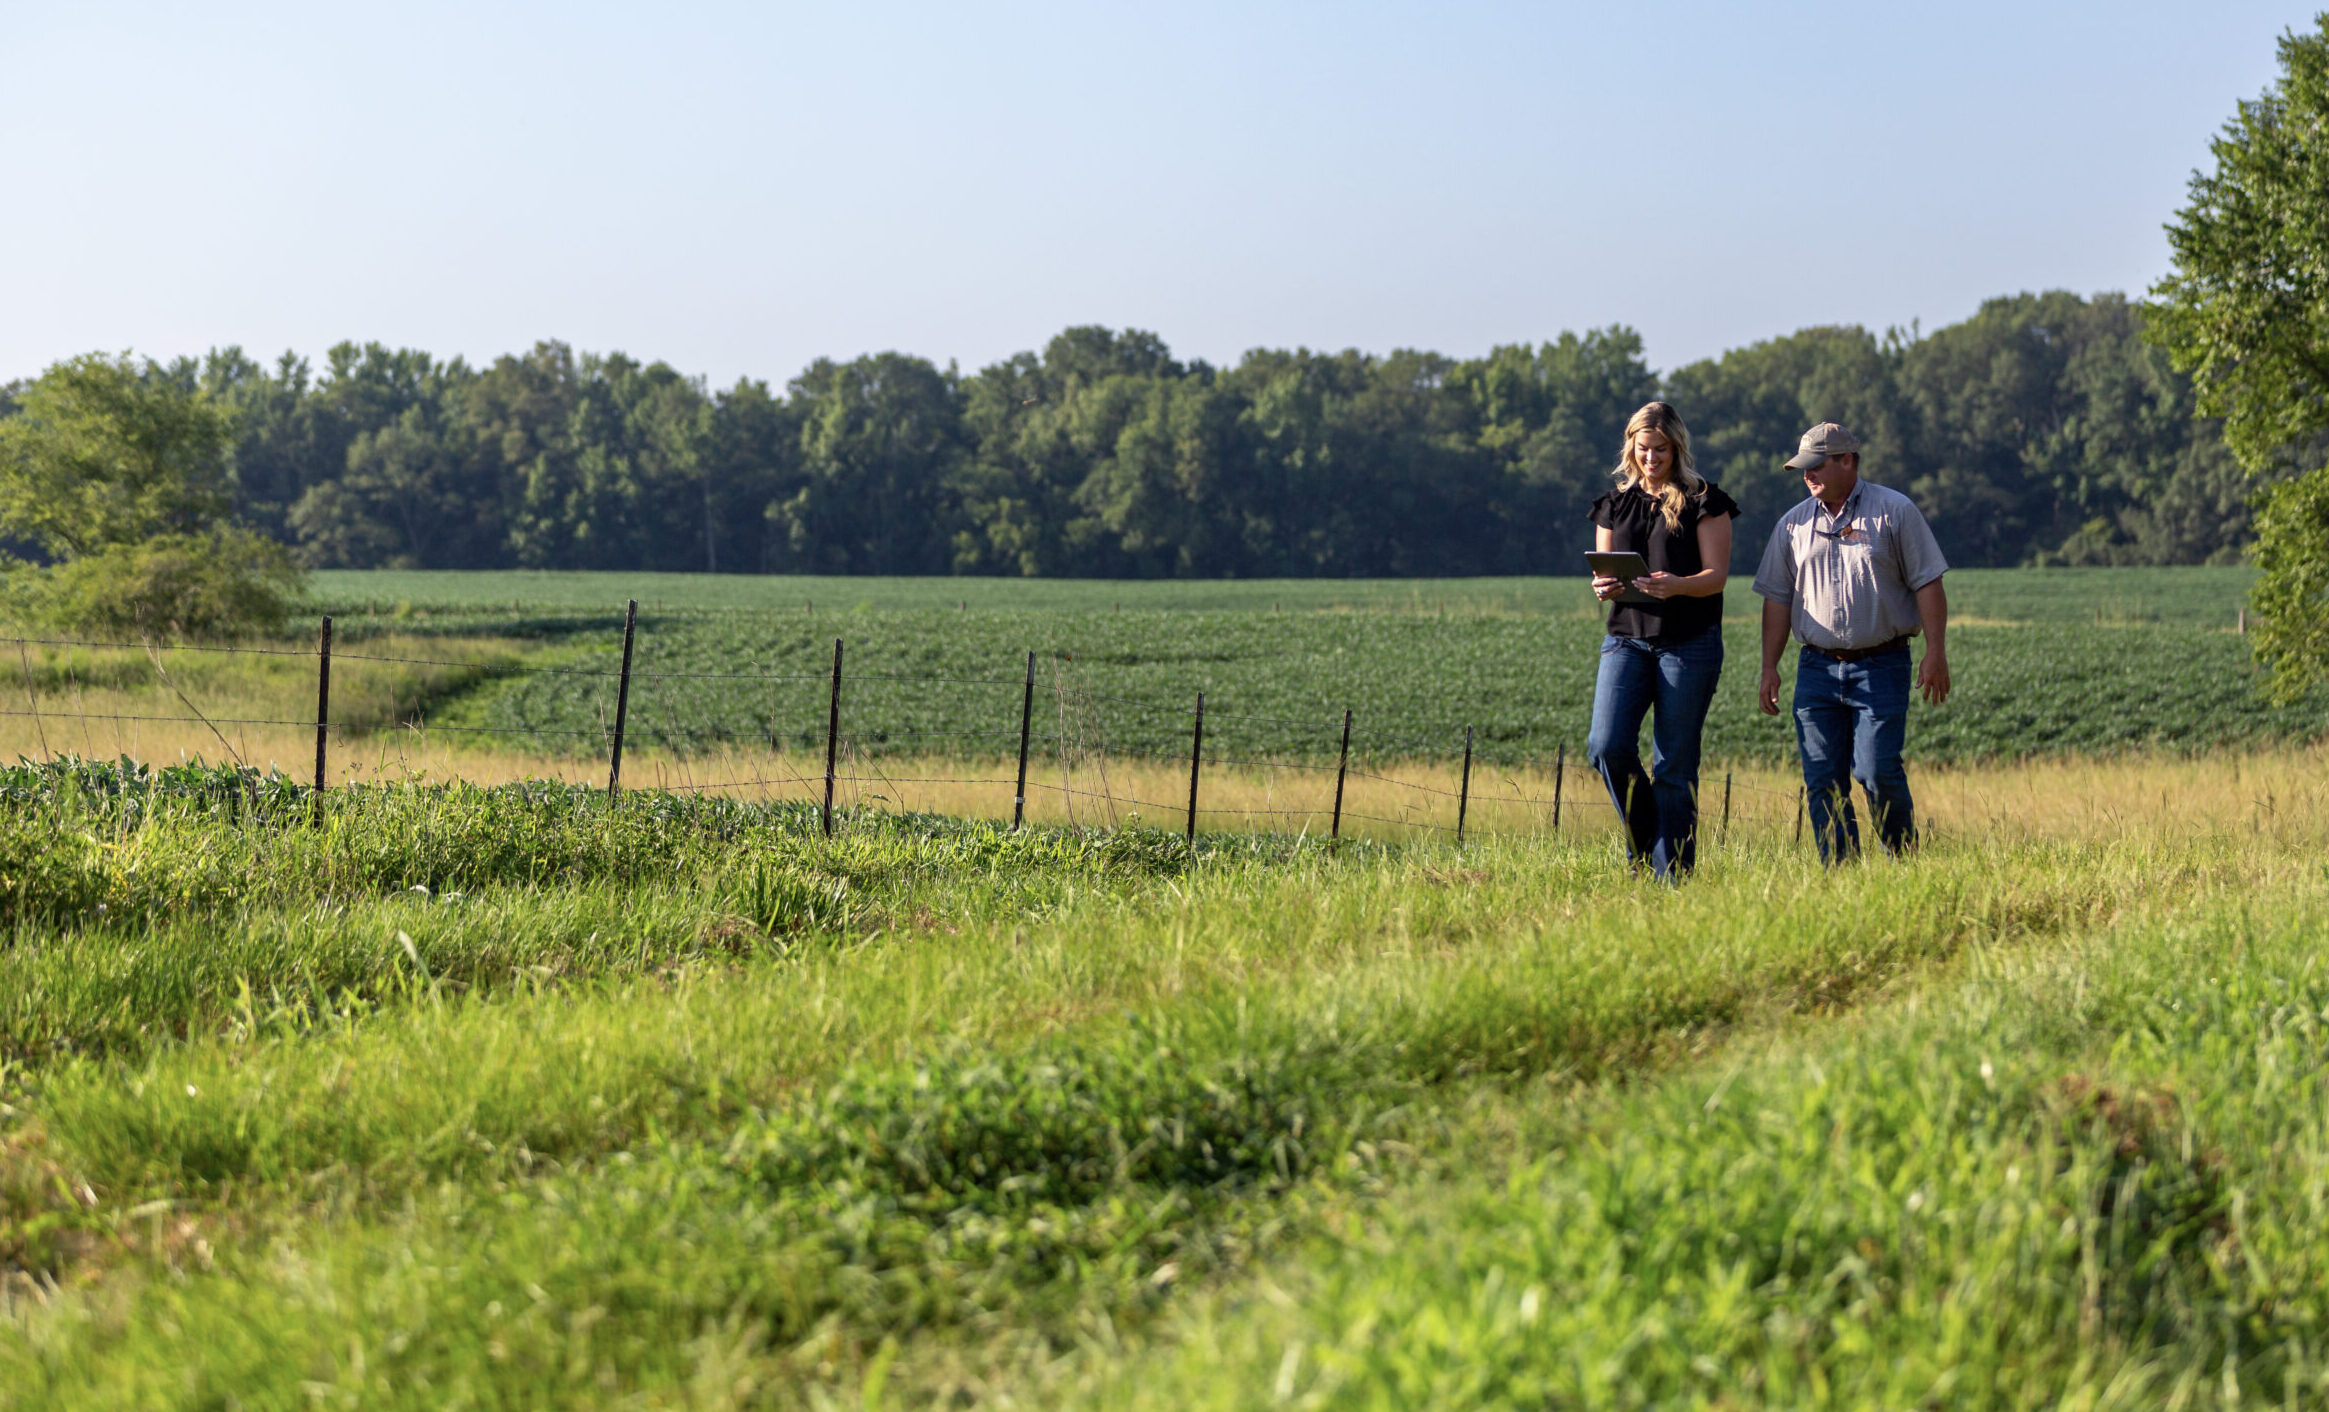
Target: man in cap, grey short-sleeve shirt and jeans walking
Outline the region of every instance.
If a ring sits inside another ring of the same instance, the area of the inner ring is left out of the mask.
[[[1861,443],[1835,422],[1803,433],[1789,471],[1812,499],[1779,517],[1754,576],[1763,596],[1763,715],[1779,713],[1779,652],[1793,634],[1796,746],[1821,862],[1854,857],[1852,781],[1868,790],[1886,853],[1917,843],[1907,739],[1910,650],[1924,634],[1917,690],[1949,697],[1949,596],[1933,527],[1896,489],[1861,480]]]

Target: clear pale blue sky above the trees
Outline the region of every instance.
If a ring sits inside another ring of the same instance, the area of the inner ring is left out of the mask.
[[[538,338],[783,382],[1067,324],[1477,354],[2140,291],[2313,7],[0,0],[0,380]]]

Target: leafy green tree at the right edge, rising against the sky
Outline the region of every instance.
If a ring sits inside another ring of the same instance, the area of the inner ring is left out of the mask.
[[[2280,79],[2210,144],[2168,224],[2150,331],[2252,473],[2303,468],[2257,520],[2257,652],[2273,690],[2329,680],[2329,14],[2280,37]]]

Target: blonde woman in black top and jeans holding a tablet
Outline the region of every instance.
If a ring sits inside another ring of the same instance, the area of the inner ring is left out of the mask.
[[[1649,573],[1593,578],[1609,603],[1586,757],[1626,823],[1626,855],[1665,881],[1698,862],[1698,736],[1723,676],[1723,580],[1737,503],[1691,464],[1691,431],[1668,403],[1626,422],[1616,489],[1593,501],[1593,548],[1633,550]],[[1616,601],[1626,594],[1626,601]],[[1642,718],[1651,725],[1642,769]]]

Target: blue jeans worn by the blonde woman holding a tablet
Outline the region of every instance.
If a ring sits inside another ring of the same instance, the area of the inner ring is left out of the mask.
[[[1668,881],[1698,862],[1698,736],[1721,676],[1721,627],[1672,645],[1602,638],[1586,760],[1609,785],[1609,804],[1626,820],[1626,857],[1649,857]],[[1654,753],[1644,774],[1642,715],[1651,706],[1658,718],[1649,732]]]

